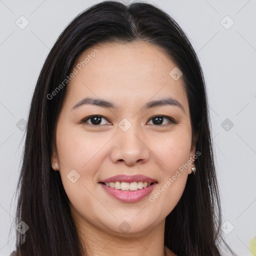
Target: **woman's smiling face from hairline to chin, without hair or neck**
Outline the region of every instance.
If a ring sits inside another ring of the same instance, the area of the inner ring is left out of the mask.
[[[182,76],[169,74],[174,67],[144,42],[91,47],[75,63],[51,160],[80,225],[146,233],[180,199],[195,151]]]

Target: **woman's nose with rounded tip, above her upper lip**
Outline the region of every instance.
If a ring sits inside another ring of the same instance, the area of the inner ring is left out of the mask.
[[[148,161],[149,151],[142,131],[139,132],[135,125],[131,125],[126,131],[118,128],[110,157],[114,163],[130,166]]]

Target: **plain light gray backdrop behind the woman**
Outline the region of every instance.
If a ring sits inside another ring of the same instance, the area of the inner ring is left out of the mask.
[[[14,248],[10,226],[22,130],[39,71],[63,28],[96,2],[0,0],[0,255]],[[238,255],[249,256],[256,236],[256,1],[148,2],[179,23],[198,54],[210,106],[222,230]],[[29,21],[24,29],[21,15]]]

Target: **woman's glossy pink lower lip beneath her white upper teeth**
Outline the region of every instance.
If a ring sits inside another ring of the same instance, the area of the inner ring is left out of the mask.
[[[135,191],[116,189],[116,188],[112,188],[110,186],[104,185],[102,183],[100,183],[100,185],[105,189],[107,193],[109,193],[119,201],[137,202],[142,198],[146,197],[152,191],[156,183],[153,183],[152,185],[142,189],[137,189]]]

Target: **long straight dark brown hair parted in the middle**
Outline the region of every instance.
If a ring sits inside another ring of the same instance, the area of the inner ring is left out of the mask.
[[[39,74],[26,127],[22,167],[17,186],[16,250],[22,256],[86,254],[60,174],[51,168],[55,126],[66,86],[49,94],[70,74],[79,55],[98,43],[144,41],[161,47],[182,71],[196,151],[195,175],[165,220],[164,244],[178,256],[220,255],[221,211],[209,113],[202,70],[187,36],[164,11],[148,3],[126,5],[103,1],[76,16],[50,50]]]

